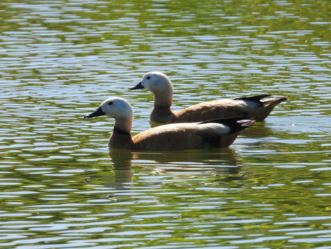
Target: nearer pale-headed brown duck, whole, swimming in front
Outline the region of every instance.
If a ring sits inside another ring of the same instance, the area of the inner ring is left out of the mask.
[[[244,117],[164,124],[131,136],[133,108],[127,100],[119,97],[108,98],[84,118],[103,115],[115,120],[108,147],[138,151],[179,151],[229,147],[239,135],[239,131],[255,123],[254,118]]]

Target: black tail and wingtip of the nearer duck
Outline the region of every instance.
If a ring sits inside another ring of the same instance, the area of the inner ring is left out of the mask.
[[[211,122],[216,122],[218,124],[224,124],[230,128],[230,133],[236,133],[237,131],[241,131],[247,127],[250,127],[255,123],[254,117],[236,117],[236,118],[218,118],[215,120],[207,120],[203,122],[199,122],[198,124],[207,124]]]

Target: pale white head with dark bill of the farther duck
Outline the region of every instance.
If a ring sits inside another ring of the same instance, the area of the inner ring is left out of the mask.
[[[142,80],[130,88],[147,89],[155,95],[155,105],[170,107],[172,104],[173,85],[167,75],[158,71],[145,73]]]

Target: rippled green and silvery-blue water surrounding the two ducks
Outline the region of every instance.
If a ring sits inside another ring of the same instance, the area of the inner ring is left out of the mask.
[[[0,248],[331,248],[331,4],[0,3]],[[288,95],[228,149],[108,151],[113,95]]]

